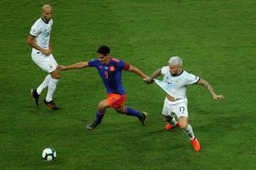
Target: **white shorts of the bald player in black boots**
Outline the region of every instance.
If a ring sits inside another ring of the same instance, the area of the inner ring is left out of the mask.
[[[31,57],[33,62],[43,69],[43,71],[48,73],[53,72],[58,66],[53,55],[46,56],[36,49],[32,50]]]

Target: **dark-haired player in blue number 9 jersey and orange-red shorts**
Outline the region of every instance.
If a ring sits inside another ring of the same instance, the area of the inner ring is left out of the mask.
[[[133,108],[124,106],[125,91],[121,82],[122,70],[134,72],[143,79],[148,77],[136,67],[133,67],[122,60],[117,60],[111,57],[110,47],[107,47],[106,45],[99,47],[97,53],[98,57],[90,62],[78,62],[68,66],[59,65],[57,67],[60,70],[96,67],[100,77],[103,80],[103,83],[105,84],[108,98],[99,103],[96,119],[93,123],[87,125],[87,130],[93,130],[97,127],[97,125],[100,125],[102,118],[106,113],[106,108],[114,108],[117,113],[136,116],[139,118],[142,125],[144,125],[146,123],[146,112],[136,111]]]

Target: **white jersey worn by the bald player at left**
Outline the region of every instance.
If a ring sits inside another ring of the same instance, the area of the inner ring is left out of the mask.
[[[45,23],[42,18],[39,18],[31,27],[30,35],[35,37],[36,45],[43,49],[49,49],[50,30],[53,26],[53,19]]]

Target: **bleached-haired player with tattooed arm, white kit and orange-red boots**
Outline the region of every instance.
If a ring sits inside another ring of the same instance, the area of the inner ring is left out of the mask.
[[[161,74],[164,75],[163,81],[155,79]],[[162,111],[164,120],[168,123],[165,128],[168,130],[180,127],[186,134],[188,134],[193,148],[197,152],[200,151],[201,145],[193,134],[191,125],[188,124],[188,99],[186,98],[186,86],[188,84],[202,85],[210,91],[210,94],[215,100],[223,99],[223,95],[216,95],[213,91],[213,87],[210,86],[208,81],[183,70],[180,57],[171,57],[169,66],[156,70],[151,77],[144,79],[144,81],[147,84],[156,82],[156,84],[161,86],[167,93]],[[178,122],[176,122],[174,115],[177,116]]]

